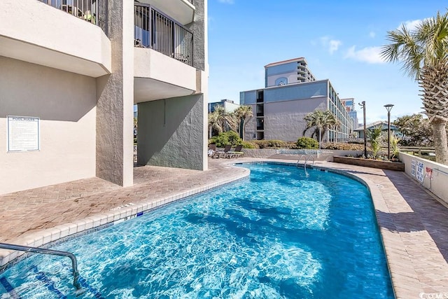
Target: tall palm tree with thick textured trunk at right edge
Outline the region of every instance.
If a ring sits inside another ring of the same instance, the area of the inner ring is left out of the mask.
[[[381,56],[401,62],[405,73],[419,82],[423,108],[433,127],[435,160],[448,165],[448,11],[421,21],[414,30],[402,25],[387,33],[390,44]]]

